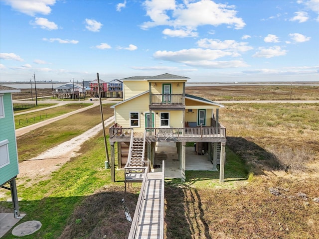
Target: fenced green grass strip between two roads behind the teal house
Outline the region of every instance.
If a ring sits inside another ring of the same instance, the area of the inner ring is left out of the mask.
[[[44,104],[44,105],[53,105],[53,104]],[[27,125],[37,123],[46,119],[51,119],[57,116],[61,116],[66,113],[76,111],[84,107],[88,107],[90,105],[92,104],[66,104],[64,106],[60,106],[60,107],[56,107],[52,109],[14,116],[15,128],[17,129],[17,128],[25,127]]]

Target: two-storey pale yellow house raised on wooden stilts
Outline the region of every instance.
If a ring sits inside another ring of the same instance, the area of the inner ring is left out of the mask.
[[[123,102],[114,108],[115,124],[110,127],[111,159],[114,145],[118,147],[118,165],[133,165],[134,154],[152,167],[157,142],[176,143],[180,161],[181,179],[185,181],[185,144],[196,143],[217,170],[220,159],[220,181],[224,177],[226,128],[218,122],[219,109],[223,106],[201,97],[185,94],[188,77],[162,74],[153,77],[129,77],[123,81]],[[137,151],[135,144],[143,142]],[[141,165],[141,163],[140,163]]]

